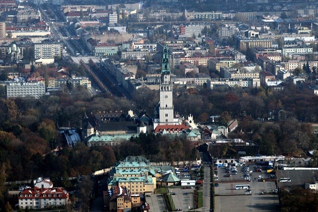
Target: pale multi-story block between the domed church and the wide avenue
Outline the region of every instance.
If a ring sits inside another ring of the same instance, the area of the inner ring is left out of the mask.
[[[34,44],[35,59],[54,59],[55,56],[62,56],[63,45],[59,42],[41,42]]]

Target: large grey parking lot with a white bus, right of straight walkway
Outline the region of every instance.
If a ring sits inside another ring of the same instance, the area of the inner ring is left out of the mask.
[[[270,173],[266,170],[262,172],[256,172],[256,166],[249,165],[248,172],[243,173],[243,166],[237,167],[237,174],[231,175],[231,177],[225,177],[225,167],[219,167],[217,169],[219,181],[218,187],[215,187],[215,211],[228,212],[229,205],[225,203],[231,203],[231,206],[235,206],[235,211],[277,211],[278,210],[278,196],[277,195],[261,195],[261,192],[272,192],[276,189],[274,181],[265,181],[270,179]],[[252,172],[250,172],[252,171]],[[249,180],[244,180],[246,176]],[[260,177],[261,176],[261,177]],[[260,179],[260,180],[259,180]],[[236,189],[237,185],[249,185],[248,189]],[[247,192],[248,191],[248,192]]]

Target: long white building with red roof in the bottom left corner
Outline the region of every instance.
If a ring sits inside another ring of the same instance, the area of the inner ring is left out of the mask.
[[[33,188],[20,192],[20,209],[46,209],[62,207],[70,203],[69,193],[63,188]]]

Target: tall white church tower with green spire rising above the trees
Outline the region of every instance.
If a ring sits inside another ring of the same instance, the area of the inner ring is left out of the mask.
[[[170,64],[168,47],[164,44],[160,82],[159,125],[173,123],[172,83],[170,81]]]

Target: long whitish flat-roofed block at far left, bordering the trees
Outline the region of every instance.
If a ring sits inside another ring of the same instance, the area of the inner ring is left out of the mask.
[[[6,85],[6,98],[34,97],[41,98],[45,95],[45,85],[42,83],[14,82]]]

